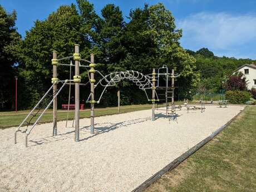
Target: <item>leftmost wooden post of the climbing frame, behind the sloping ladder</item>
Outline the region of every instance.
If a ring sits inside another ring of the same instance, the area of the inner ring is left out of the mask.
[[[57,51],[52,52],[52,58],[57,59]],[[57,65],[53,65],[53,78],[57,78]],[[53,97],[57,94],[57,83],[53,85]],[[53,100],[53,131],[52,135],[57,135],[57,97]]]

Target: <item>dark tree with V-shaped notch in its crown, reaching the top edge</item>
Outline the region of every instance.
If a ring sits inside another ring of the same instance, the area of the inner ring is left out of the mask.
[[[124,57],[124,47],[120,37],[125,26],[122,12],[118,6],[107,4],[98,16],[93,4],[77,0],[81,16],[81,33],[91,42],[91,52],[97,55],[97,62],[105,65],[118,63]]]

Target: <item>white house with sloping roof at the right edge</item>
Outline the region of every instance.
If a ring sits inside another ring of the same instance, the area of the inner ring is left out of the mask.
[[[256,88],[256,65],[252,64],[245,64],[234,72],[242,72],[247,80],[248,88],[251,89],[252,87]]]

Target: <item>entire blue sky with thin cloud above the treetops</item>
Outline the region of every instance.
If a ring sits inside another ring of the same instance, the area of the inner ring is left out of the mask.
[[[17,11],[16,26],[24,37],[36,19],[45,19],[61,4],[75,0],[0,0],[11,12]],[[256,59],[256,0],[91,0],[97,13],[107,3],[119,6],[128,16],[131,8],[144,3],[164,3],[183,29],[181,45],[190,50],[207,47],[217,56]]]

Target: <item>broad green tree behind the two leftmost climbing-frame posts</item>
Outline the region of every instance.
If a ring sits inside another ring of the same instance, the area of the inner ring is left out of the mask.
[[[90,42],[81,35],[81,17],[75,5],[60,6],[45,21],[36,21],[35,26],[19,43],[15,54],[19,58],[20,76],[23,80],[23,107],[31,107],[51,86],[52,51],[58,57],[72,56],[74,44],[80,44],[82,55],[89,55]],[[58,77],[68,77],[68,67],[58,67]],[[81,71],[82,72],[82,71]]]

